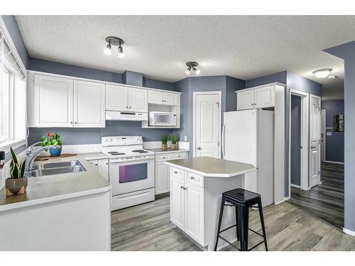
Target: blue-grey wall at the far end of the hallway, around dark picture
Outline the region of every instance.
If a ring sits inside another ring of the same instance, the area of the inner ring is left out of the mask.
[[[325,109],[326,128],[333,127],[333,116],[344,113],[344,100],[323,101],[322,109]],[[346,125],[345,125],[346,126]],[[333,162],[344,162],[344,132],[334,132],[326,129],[332,135],[325,135],[325,160]]]

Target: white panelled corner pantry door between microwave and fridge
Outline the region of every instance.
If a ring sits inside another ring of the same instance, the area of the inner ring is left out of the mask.
[[[221,156],[219,149],[219,135],[221,131],[221,110],[219,106],[220,94],[195,94],[195,157]]]

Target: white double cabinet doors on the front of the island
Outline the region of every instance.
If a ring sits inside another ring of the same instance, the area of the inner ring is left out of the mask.
[[[173,173],[173,170],[172,170]],[[170,220],[204,246],[204,189],[183,177],[170,177]]]

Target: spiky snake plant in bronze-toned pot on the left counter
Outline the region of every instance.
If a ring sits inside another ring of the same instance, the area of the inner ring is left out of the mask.
[[[10,177],[5,180],[6,196],[13,194],[23,194],[26,192],[27,177],[25,174],[26,160],[18,162],[16,154],[11,150]]]

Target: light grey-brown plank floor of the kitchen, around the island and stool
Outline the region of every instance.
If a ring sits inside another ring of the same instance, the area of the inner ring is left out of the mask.
[[[200,250],[170,222],[170,198],[114,211],[111,215],[112,250]],[[269,250],[355,250],[355,237],[346,235],[307,212],[283,202],[263,209]],[[256,211],[250,228],[260,230]],[[261,238],[249,233],[249,246]],[[239,245],[239,243],[236,243]],[[224,250],[233,250],[227,247]],[[255,250],[265,250],[263,245]]]

